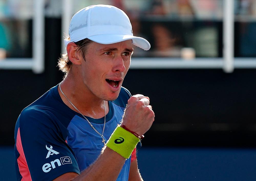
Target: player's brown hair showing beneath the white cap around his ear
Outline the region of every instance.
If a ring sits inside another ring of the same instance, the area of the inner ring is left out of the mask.
[[[66,38],[67,40],[70,40],[69,37]],[[86,53],[86,50],[87,50],[87,46],[92,42],[92,40],[89,40],[89,39],[83,39],[83,40],[80,40],[80,41],[77,41],[77,42],[74,42],[78,49],[77,51],[79,53],[82,53],[82,56],[83,56],[83,59],[85,61],[85,53]],[[58,61],[58,66],[59,66],[59,69],[65,73],[65,77],[67,76],[67,74],[69,73],[70,69],[71,69],[71,66],[72,66],[72,62],[69,60],[68,58],[68,53],[67,53],[67,50],[62,53],[61,55],[61,58],[59,59]]]

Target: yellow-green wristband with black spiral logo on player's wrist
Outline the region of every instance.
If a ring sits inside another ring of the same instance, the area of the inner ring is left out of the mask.
[[[139,141],[138,137],[118,125],[106,146],[128,159]]]

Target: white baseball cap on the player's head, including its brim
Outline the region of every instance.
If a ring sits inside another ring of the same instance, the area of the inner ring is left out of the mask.
[[[70,41],[77,42],[88,38],[101,44],[118,43],[132,40],[132,44],[150,49],[150,43],[141,37],[133,36],[128,16],[121,9],[110,5],[91,5],[78,11],[72,17],[69,26]]]

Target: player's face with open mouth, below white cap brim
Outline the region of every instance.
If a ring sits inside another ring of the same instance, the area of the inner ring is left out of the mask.
[[[118,97],[132,53],[132,40],[107,45],[92,42],[88,45],[81,74],[92,96],[109,101]]]

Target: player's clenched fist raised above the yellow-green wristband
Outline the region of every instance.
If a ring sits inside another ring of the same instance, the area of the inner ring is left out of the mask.
[[[142,94],[133,95],[128,100],[122,125],[140,136],[145,134],[155,120],[155,113],[149,104],[148,97]]]

